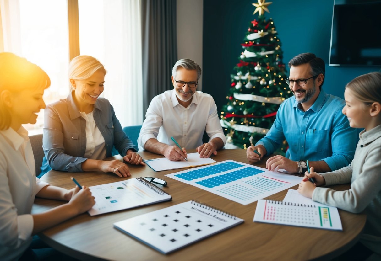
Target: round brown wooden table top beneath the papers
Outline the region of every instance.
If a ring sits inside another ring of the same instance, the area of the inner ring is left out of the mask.
[[[139,154],[144,159],[159,157],[146,151]],[[221,150],[212,158],[216,161],[232,159],[249,163],[245,150]],[[264,167],[265,162],[266,159],[256,165]],[[129,167],[133,178],[152,176],[166,180],[168,186],[164,190],[173,197],[173,201],[93,217],[84,213],[43,231],[39,234],[41,239],[59,251],[80,260],[327,260],[354,245],[366,221],[366,216],[363,214],[339,210],[343,232],[254,223],[256,202],[241,205],[164,176],[178,170],[154,172],[148,166],[129,165]],[[41,180],[52,185],[72,188],[74,183],[70,180],[70,176],[74,176],[80,184],[86,186],[126,179],[119,178],[114,173],[50,171]],[[293,187],[296,188],[297,186]],[[333,186],[333,188],[343,190],[348,189],[349,185]],[[271,198],[282,200],[286,193],[287,189],[272,195]],[[163,255],[113,228],[112,224],[116,221],[192,199],[234,213],[245,222],[169,255]],[[62,202],[36,199],[32,212],[42,212],[59,204]]]

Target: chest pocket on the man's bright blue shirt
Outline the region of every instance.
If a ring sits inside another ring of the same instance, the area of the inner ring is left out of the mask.
[[[331,150],[331,138],[329,130],[307,130],[306,148],[314,152]]]

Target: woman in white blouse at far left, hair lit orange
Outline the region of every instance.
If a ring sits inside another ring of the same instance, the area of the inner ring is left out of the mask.
[[[40,67],[14,54],[0,53],[0,260],[30,258],[33,234],[95,204],[86,186],[67,190],[35,177],[32,146],[21,124],[36,123],[49,86],[50,79]],[[68,203],[32,215],[35,196]]]

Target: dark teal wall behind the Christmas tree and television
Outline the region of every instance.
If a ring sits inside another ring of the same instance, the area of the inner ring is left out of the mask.
[[[282,42],[285,64],[299,53],[315,53],[326,63],[323,88],[327,93],[344,98],[344,87],[353,78],[380,70],[380,67],[328,66],[331,23],[334,0],[266,0]],[[230,74],[239,62],[242,39],[245,37],[256,0],[204,0],[203,15],[203,92],[211,94],[218,110],[226,104]],[[189,18],[188,18],[189,19]],[[353,14],[353,19],[361,19]],[[361,41],[367,36],[354,32],[349,41]],[[287,73],[288,74],[288,73]]]

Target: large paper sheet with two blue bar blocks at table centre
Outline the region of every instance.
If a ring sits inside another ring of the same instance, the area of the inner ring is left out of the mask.
[[[290,188],[301,177],[227,160],[166,175],[243,205]]]

